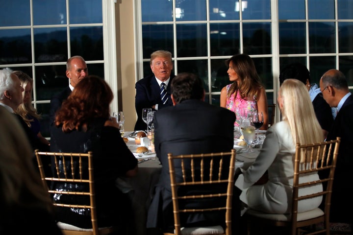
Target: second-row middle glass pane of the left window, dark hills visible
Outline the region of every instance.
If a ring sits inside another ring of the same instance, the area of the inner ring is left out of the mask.
[[[35,28],[33,30],[36,63],[66,62],[68,58],[66,27]]]

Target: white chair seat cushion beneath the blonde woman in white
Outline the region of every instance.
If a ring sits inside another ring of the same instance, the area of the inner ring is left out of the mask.
[[[246,211],[246,214],[260,217],[260,218],[264,218],[264,219],[276,220],[276,221],[289,221],[291,219],[291,214],[269,214],[269,213],[265,213],[265,212],[261,212],[261,211],[255,211],[252,209],[249,209],[248,211]],[[316,208],[311,211],[305,211],[305,212],[298,213],[297,221],[312,219],[312,218],[316,218],[316,217],[319,217],[322,215],[324,215],[324,211],[322,211],[319,208]]]

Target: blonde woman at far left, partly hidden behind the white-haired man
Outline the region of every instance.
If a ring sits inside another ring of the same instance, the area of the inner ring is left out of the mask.
[[[13,73],[20,79],[21,86],[24,89],[22,92],[23,103],[20,104],[15,113],[21,115],[25,123],[42,143],[49,145],[49,141],[45,139],[40,132],[39,119],[41,116],[32,105],[33,79],[23,71],[13,71]]]

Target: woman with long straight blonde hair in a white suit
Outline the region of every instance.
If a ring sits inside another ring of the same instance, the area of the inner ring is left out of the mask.
[[[240,200],[248,208],[266,213],[288,213],[292,201],[293,159],[296,143],[308,144],[324,141],[321,126],[315,116],[310,96],[305,85],[297,79],[287,79],[278,91],[278,107],[282,121],[271,126],[255,162],[242,169],[235,186],[242,190]],[[267,171],[263,184],[258,181]],[[307,179],[319,179],[318,174],[309,174]],[[305,179],[302,179],[305,181]],[[322,191],[322,186],[305,188],[313,192]],[[304,195],[305,191],[300,192]],[[321,197],[301,201],[299,211],[318,208]]]

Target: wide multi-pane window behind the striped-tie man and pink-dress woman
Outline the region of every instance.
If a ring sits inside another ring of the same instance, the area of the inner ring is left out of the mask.
[[[207,102],[214,105],[230,83],[224,62],[237,53],[253,58],[269,104],[276,103],[280,69],[292,62],[307,66],[312,83],[335,68],[353,86],[351,0],[136,0],[135,5],[142,35],[138,77],[151,74],[150,54],[164,49],[173,54],[175,74],[202,78]]]

